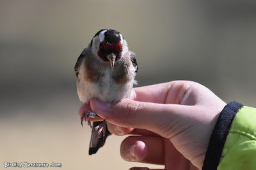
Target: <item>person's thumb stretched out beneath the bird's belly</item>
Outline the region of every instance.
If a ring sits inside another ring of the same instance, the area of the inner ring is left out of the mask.
[[[138,102],[125,98],[121,102],[110,104],[91,100],[94,112],[109,123],[120,127],[143,128],[162,135],[163,127],[173,127],[184,105],[155,104]],[[176,120],[176,121],[175,121]]]

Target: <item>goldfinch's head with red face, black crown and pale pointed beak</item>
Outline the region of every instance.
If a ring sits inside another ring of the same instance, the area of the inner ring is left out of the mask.
[[[114,29],[101,29],[90,43],[92,52],[102,61],[109,62],[111,68],[128,50],[123,36]]]

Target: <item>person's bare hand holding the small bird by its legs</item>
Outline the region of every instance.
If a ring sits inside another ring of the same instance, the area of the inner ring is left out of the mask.
[[[121,144],[124,160],[162,164],[165,169],[202,169],[212,130],[225,105],[201,84],[173,81],[134,88],[130,98],[116,104],[91,100],[81,108],[92,108],[107,120],[113,134],[137,135]]]

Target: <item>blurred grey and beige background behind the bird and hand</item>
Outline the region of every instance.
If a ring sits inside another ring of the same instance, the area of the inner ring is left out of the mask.
[[[146,166],[122,160],[124,137],[113,135],[88,156],[74,65],[102,28],[120,31],[136,53],[139,86],[191,80],[256,107],[255,21],[255,1],[1,1],[0,169]]]

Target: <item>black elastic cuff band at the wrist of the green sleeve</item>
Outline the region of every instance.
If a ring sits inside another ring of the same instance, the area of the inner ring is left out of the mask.
[[[228,103],[221,111],[218,121],[212,131],[211,139],[205,154],[203,170],[217,169],[221,153],[227,139],[228,130],[239,109],[243,107],[237,102]]]

